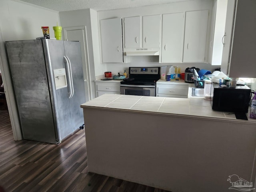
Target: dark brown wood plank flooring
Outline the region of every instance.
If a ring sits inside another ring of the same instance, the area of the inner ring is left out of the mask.
[[[14,141],[6,110],[0,110],[0,186],[6,192],[167,192],[89,173],[84,130],[57,145]]]

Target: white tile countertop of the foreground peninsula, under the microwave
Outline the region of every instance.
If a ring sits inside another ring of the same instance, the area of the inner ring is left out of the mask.
[[[81,108],[97,108],[105,110],[136,112],[179,116],[186,118],[209,119],[217,121],[240,122],[256,124],[255,119],[238,120],[235,114],[212,110],[210,100],[203,98],[166,98],[150,96],[133,96],[119,94],[104,94],[84,104]],[[249,108],[250,110],[250,108]]]

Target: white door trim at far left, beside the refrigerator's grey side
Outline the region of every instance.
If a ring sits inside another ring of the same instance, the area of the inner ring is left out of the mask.
[[[5,43],[2,39],[1,28],[0,28],[0,70],[2,74],[2,80],[4,83],[4,93],[6,96],[6,102],[8,106],[8,112],[10,116],[13,137],[14,137],[14,140],[22,140],[22,132],[20,129],[18,110],[16,108],[14,90],[12,88],[12,80],[11,80],[7,57],[6,57]]]

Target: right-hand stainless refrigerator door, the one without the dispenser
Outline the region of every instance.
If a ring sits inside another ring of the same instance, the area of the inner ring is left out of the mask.
[[[83,110],[80,108],[80,105],[85,103],[80,42],[64,41],[64,47],[66,57],[70,60],[72,68],[74,94],[70,98],[70,109],[72,113],[73,129],[77,129],[84,124]]]

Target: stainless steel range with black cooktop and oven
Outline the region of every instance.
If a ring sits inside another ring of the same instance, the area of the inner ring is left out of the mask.
[[[160,67],[129,67],[129,78],[121,81],[120,94],[156,96]]]

